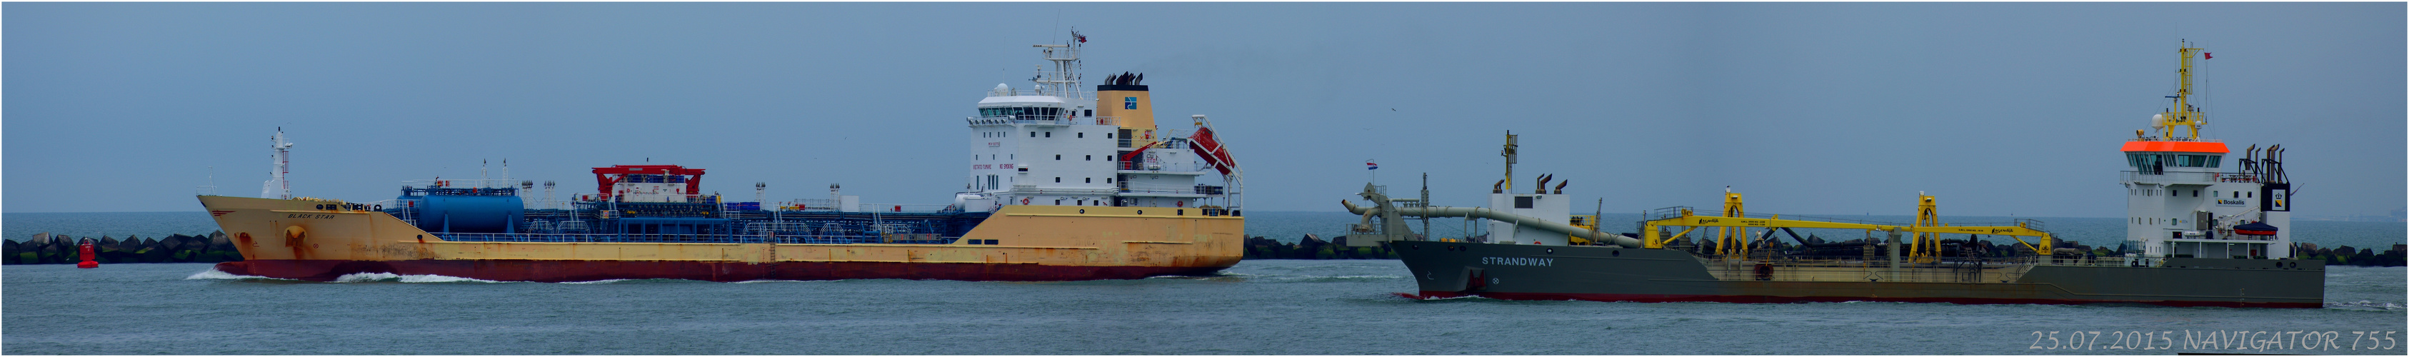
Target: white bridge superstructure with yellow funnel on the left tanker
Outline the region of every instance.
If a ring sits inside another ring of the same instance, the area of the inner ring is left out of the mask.
[[[1190,130],[1156,128],[1142,75],[1108,75],[1096,92],[1084,92],[1077,72],[1084,41],[1072,31],[1072,41],[1036,46],[1053,68],[1038,70],[1029,89],[995,84],[978,101],[978,116],[964,118],[971,174],[954,205],[971,212],[1002,205],[1236,210],[1243,174],[1226,152],[1200,154],[1224,150],[1204,116],[1192,116]],[[1197,183],[1202,176],[1221,183]]]

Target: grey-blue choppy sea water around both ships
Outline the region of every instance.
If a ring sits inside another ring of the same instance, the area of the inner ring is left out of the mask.
[[[1344,215],[1337,215],[1339,222],[1318,215],[1323,212],[1291,222],[1255,212],[1248,222],[1250,229],[1303,227],[1282,232],[1298,236],[1325,227],[1330,234],[1344,234]],[[19,229],[17,215],[7,220],[12,232]],[[2050,224],[2052,232],[2067,229],[2055,220]],[[2310,234],[2308,227],[2315,224],[2320,222],[2301,222],[2301,234]],[[2375,232],[2399,239],[2397,229]],[[1419,302],[1392,294],[1414,292],[1397,261],[1243,261],[1212,277],[1096,282],[566,285],[438,275],[294,282],[226,275],[207,263],[113,263],[92,270],[5,265],[0,352],[2404,355],[2409,352],[2402,347],[2409,343],[2404,273],[2409,270],[2330,268],[2325,309],[2178,309],[1477,297]]]

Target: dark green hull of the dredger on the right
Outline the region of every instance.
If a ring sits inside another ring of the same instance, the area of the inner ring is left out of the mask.
[[[2325,306],[2325,261],[1730,261],[1674,248],[1388,241],[1419,299]]]

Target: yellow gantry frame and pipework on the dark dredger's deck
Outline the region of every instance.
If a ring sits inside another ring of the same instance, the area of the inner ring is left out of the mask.
[[[1725,198],[1727,200],[1737,200],[1739,195],[1732,193],[1732,195],[1725,195]],[[1925,205],[1922,212],[1932,212],[1932,195],[1922,195],[1922,205]],[[1747,229],[1747,227],[1766,227],[1766,229],[1867,229],[1867,232],[1891,232],[1891,229],[1896,229],[1896,232],[1918,234],[1918,236],[1925,236],[1925,234],[1992,234],[1992,236],[2016,239],[2016,244],[2024,244],[2024,248],[2033,248],[2038,253],[2050,253],[2052,251],[2050,241],[2055,241],[2050,236],[2050,232],[2038,232],[2038,229],[2031,229],[2031,227],[2024,227],[2024,224],[2014,224],[2014,227],[1942,227],[1939,222],[1930,222],[1927,224],[1922,217],[1918,217],[1918,224],[1913,224],[1913,227],[1893,227],[1893,224],[1814,222],[1814,220],[1778,220],[1778,217],[1771,217],[1771,220],[1766,220],[1766,217],[1706,217],[1706,215],[1691,215],[1689,210],[1681,210],[1681,217],[1650,220],[1650,222],[1641,224],[1641,244],[1645,248],[1665,248],[1665,239],[1667,236],[1662,236],[1662,229],[1657,229],[1657,227],[1689,227],[1689,229],[1681,229],[1681,234],[1674,234],[1674,236],[1686,236],[1691,229],[1698,229],[1698,227],[1725,227],[1725,229]],[[2038,236],[2040,244],[2024,241],[2021,236]],[[1725,239],[1730,239],[1730,236],[1725,236]],[[1739,239],[1747,241],[1747,236],[1739,236]],[[1732,244],[1720,244],[1720,246],[1732,246]],[[1915,246],[1918,248],[1908,248],[1908,251],[1930,251],[1930,256],[1939,256],[1937,239],[1934,239],[1934,244],[1918,241]],[[1730,253],[1730,251],[1718,251],[1718,253]],[[1747,253],[1747,248],[1739,248],[1739,253]],[[1925,253],[1918,253],[1918,256],[1925,256]]]

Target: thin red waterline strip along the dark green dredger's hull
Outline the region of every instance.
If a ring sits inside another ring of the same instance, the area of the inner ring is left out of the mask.
[[[1744,294],[1539,294],[1539,292],[1421,292],[1407,294],[1407,299],[1450,299],[1450,297],[1489,297],[1489,299],[1539,299],[1539,302],[1730,302],[1730,304],[1797,304],[1797,302],[1946,302],[1946,304],[2158,304],[2158,306],[2274,306],[2274,309],[2322,309],[2325,304],[2313,302],[2122,302],[2122,299],[1978,299],[1978,297],[1744,297]]]

